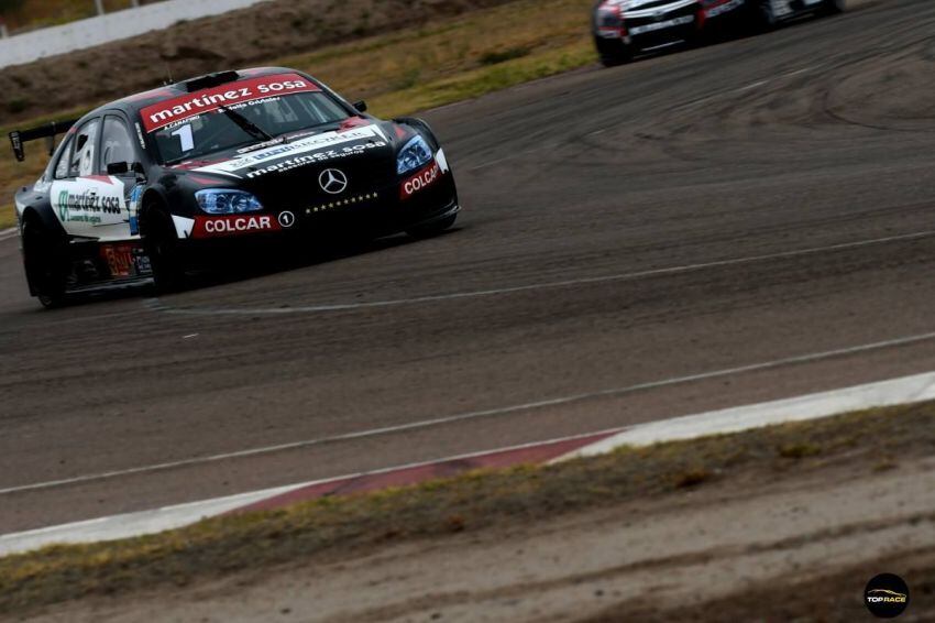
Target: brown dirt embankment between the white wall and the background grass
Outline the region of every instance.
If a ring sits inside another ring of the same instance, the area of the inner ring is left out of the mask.
[[[509,0],[274,0],[0,69],[4,123],[150,89],[167,78],[268,63]]]

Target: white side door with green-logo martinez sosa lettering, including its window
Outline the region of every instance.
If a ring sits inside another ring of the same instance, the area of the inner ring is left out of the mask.
[[[101,172],[101,127],[109,117],[88,119],[75,130],[65,152],[67,177],[52,184],[55,216],[73,237],[106,241],[131,236],[127,181]]]

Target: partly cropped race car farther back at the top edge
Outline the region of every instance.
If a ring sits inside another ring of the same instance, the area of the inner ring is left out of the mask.
[[[600,0],[593,34],[605,66],[630,62],[644,50],[696,43],[715,24],[766,30],[807,13],[835,13],[846,0]]]

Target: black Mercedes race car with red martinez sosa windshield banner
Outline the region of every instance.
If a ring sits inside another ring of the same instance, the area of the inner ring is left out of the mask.
[[[429,125],[365,111],[301,72],[255,68],[12,132],[20,161],[25,142],[66,132],[15,196],[31,294],[55,306],[151,278],[172,291],[200,260],[265,242],[450,228],[458,192]]]

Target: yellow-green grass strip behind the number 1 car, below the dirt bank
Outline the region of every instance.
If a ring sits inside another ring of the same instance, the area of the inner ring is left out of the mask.
[[[592,0],[517,0],[270,64],[306,70],[351,99],[369,99],[377,117],[398,117],[594,63],[591,7]],[[78,117],[99,103],[15,125]],[[7,101],[10,106],[19,105]],[[0,128],[2,140],[11,129]],[[41,143],[32,143],[26,162],[16,163],[9,149],[0,151],[0,229],[15,221],[16,188],[42,174],[47,163],[43,152]]]

